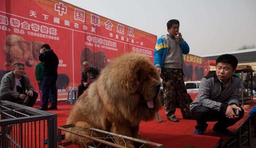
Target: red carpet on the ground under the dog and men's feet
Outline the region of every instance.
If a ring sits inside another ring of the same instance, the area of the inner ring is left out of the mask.
[[[38,104],[36,106],[38,107]],[[67,104],[65,101],[58,102],[58,110],[49,111],[57,114],[58,125],[63,126],[66,124],[67,116],[73,105]],[[181,111],[177,108],[176,116],[179,122],[170,122],[166,119],[164,108],[160,110],[159,114],[162,116],[162,122],[153,120],[152,122],[141,122],[140,130],[141,137],[155,143],[161,143],[164,147],[215,147],[220,139],[227,137],[212,131],[215,122],[207,122],[209,124],[205,135],[194,135],[195,120],[185,120],[181,116]],[[243,119],[247,118],[248,114],[245,113]],[[236,127],[241,124],[243,120],[231,126],[230,131],[234,131]]]

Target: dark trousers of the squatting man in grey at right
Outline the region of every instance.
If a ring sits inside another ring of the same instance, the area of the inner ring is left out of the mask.
[[[217,126],[220,129],[227,128],[228,126],[234,125],[238,120],[243,118],[245,111],[242,108],[242,111],[239,112],[238,118],[226,118],[226,110],[212,110],[205,106],[195,106],[192,110],[192,113],[197,121],[195,128],[197,130],[205,131],[207,128],[207,121],[218,121],[214,126]]]

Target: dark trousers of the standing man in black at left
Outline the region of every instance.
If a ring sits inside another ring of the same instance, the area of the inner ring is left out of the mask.
[[[48,108],[49,100],[53,107],[57,106],[57,77],[46,75],[42,81],[42,106]]]

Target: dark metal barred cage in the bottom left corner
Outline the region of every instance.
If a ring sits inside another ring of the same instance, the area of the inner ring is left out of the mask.
[[[57,147],[57,115],[0,101],[1,147]]]

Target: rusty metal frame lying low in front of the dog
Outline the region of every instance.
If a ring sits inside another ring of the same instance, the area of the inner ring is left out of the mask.
[[[162,148],[163,145],[159,144],[159,143],[153,143],[151,141],[146,141],[146,140],[142,140],[142,139],[135,139],[133,137],[127,137],[124,135],[118,135],[115,133],[110,133],[107,131],[102,131],[100,129],[97,128],[85,128],[83,130],[71,130],[70,128],[75,126],[74,124],[67,124],[64,126],[60,126],[58,127],[58,137],[59,137],[59,147],[61,148],[65,148],[65,147],[69,147],[71,145],[73,145],[72,141],[62,141],[62,135],[63,132],[65,131],[66,133],[71,133],[73,135],[77,135],[77,140],[78,139],[90,139],[90,141],[92,142],[92,145],[90,145],[89,147],[124,147],[122,145],[118,145],[117,143],[115,143],[114,139],[120,138],[123,139],[123,141],[125,142],[126,140],[129,141],[133,141],[133,143],[136,143],[136,147],[158,147],[158,148]],[[83,135],[81,134],[81,131],[90,131],[91,136],[89,135]],[[94,135],[93,133],[100,133],[100,135],[102,135],[102,137],[93,137],[92,135]],[[104,136],[103,136],[104,135]],[[81,145],[81,147],[88,147],[88,145],[86,145],[86,143],[84,143],[84,145]]]

